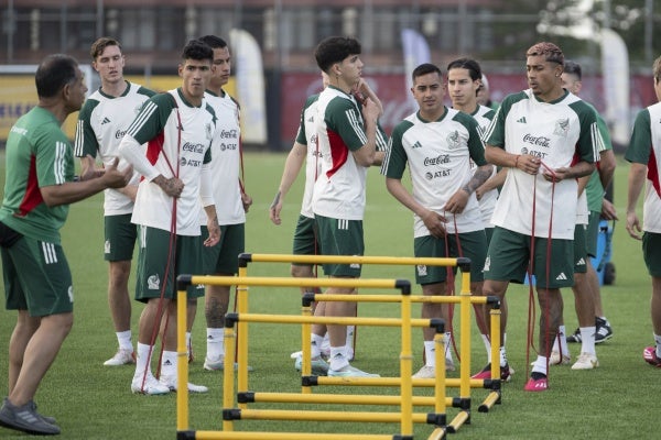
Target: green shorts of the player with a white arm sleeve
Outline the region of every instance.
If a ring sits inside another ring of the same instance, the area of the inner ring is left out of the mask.
[[[169,231],[139,227],[140,249],[136,275],[136,299],[176,298],[177,275],[203,275],[202,241],[199,237],[176,235],[172,249]],[[188,297],[204,296],[204,286],[188,286]]]

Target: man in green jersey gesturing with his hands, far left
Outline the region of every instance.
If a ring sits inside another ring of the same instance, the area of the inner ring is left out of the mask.
[[[8,310],[18,310],[9,342],[9,396],[0,425],[35,435],[57,435],[52,417],[36,411],[34,395],[74,323],[72,273],[59,230],[68,207],[105,190],[122,188],[133,170],[90,173],[74,182],[74,154],[61,125],[80,110],[87,87],[78,63],[50,55],[35,75],[36,107],[12,127],[7,140],[0,254]]]

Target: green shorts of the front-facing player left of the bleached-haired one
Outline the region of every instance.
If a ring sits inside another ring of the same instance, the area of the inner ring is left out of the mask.
[[[487,235],[484,231],[466,232],[447,235],[447,250],[445,252],[445,238],[437,239],[433,235],[418,237],[413,240],[413,252],[416,257],[443,258],[446,256],[465,256],[470,258],[470,282],[484,280],[483,268],[487,255]],[[415,266],[415,283],[434,284],[447,279],[447,271],[456,273],[455,267],[447,266]]]

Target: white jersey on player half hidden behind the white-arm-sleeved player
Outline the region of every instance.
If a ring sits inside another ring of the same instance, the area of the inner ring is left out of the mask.
[[[218,224],[240,224],[246,222],[246,210],[241,200],[241,129],[239,106],[227,94],[219,97],[207,91],[205,99],[216,113],[216,133],[212,142],[212,184]],[[201,213],[199,222],[207,224],[206,212]]]

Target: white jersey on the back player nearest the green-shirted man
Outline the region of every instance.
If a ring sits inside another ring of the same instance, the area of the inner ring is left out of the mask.
[[[118,157],[117,150],[127,129],[136,119],[140,108],[155,92],[127,81],[127,89],[119,97],[104,94],[99,88],[91,94],[78,113],[74,154],[76,157],[90,155],[99,158],[105,166],[112,165]],[[119,168],[127,166],[120,158]],[[140,175],[133,173],[129,185],[138,185]],[[105,216],[131,213],[133,201],[115,188],[104,191]]]

